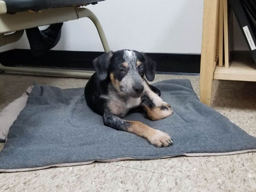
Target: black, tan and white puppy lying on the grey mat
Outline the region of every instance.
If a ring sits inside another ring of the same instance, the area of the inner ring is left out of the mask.
[[[156,63],[142,52],[120,50],[105,53],[93,60],[96,73],[84,90],[87,105],[103,116],[104,124],[120,131],[144,137],[157,147],[168,147],[171,137],[139,121],[121,119],[133,108],[141,108],[151,120],[172,114],[171,105],[160,98],[160,90],[149,85]]]

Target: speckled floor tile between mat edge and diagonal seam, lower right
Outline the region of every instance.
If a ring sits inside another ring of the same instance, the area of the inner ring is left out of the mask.
[[[111,164],[207,181],[242,190],[256,189],[256,153],[211,157],[173,157]]]

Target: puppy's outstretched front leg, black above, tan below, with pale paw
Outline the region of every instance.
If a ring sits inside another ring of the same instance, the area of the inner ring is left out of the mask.
[[[167,133],[151,128],[142,122],[126,121],[109,112],[104,113],[103,121],[105,125],[116,130],[127,131],[140,137],[144,137],[156,147],[168,147],[172,144],[172,139]]]

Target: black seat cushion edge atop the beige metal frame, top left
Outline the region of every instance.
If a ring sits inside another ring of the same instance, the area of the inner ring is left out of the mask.
[[[102,0],[4,0],[8,13],[39,11],[55,7],[95,4]]]

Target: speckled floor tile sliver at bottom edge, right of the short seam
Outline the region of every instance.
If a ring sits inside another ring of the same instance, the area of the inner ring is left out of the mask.
[[[169,175],[154,173],[148,183],[146,191],[168,191],[168,192],[242,192],[227,186],[197,180],[184,179]]]

